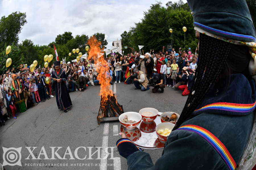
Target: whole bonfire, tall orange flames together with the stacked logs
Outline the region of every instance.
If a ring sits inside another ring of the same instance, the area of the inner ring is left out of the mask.
[[[100,48],[101,42],[95,36],[88,40],[90,50],[88,51],[88,60],[93,59],[96,71],[98,72],[97,80],[100,82],[100,110],[97,116],[98,124],[100,122],[108,122],[118,120],[118,116],[123,113],[123,107],[117,103],[113,91],[110,89],[110,68],[102,53],[104,48]]]

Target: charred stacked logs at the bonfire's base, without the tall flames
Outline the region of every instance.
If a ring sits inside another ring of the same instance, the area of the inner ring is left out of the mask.
[[[118,116],[123,113],[123,106],[117,103],[115,96],[108,96],[107,101],[101,98],[100,109],[97,117],[98,123],[104,121],[118,120]]]

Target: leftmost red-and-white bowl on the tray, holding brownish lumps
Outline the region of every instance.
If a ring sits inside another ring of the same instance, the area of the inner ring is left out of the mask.
[[[124,123],[122,122],[124,116],[127,115],[128,120],[136,121],[135,123]],[[135,129],[141,122],[141,114],[137,112],[125,112],[119,116],[119,122],[128,130]]]

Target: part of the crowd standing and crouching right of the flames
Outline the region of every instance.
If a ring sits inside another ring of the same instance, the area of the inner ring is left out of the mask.
[[[121,79],[126,84],[133,83],[135,89],[142,91],[149,90],[152,85],[153,93],[164,92],[165,87],[177,88],[183,90],[182,95],[189,95],[193,87],[194,73],[197,68],[197,49],[195,54],[191,48],[187,51],[176,52],[166,51],[165,46],[162,51],[157,53],[150,50],[146,54],[139,52],[118,56],[114,54],[108,58],[111,71],[114,72],[113,78],[115,83],[120,83]],[[134,78],[134,74],[137,77]],[[154,81],[155,80],[155,81]]]

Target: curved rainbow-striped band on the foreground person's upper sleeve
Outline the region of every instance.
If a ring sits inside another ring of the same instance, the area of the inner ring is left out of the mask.
[[[212,147],[220,154],[224,162],[226,162],[228,168],[230,170],[234,170],[236,168],[236,162],[232,158],[231,154],[228,152],[228,149],[225,145],[212,133],[208,130],[196,126],[196,125],[185,125],[178,128],[178,130],[187,130],[191,132],[195,132],[201,137],[203,137]]]

